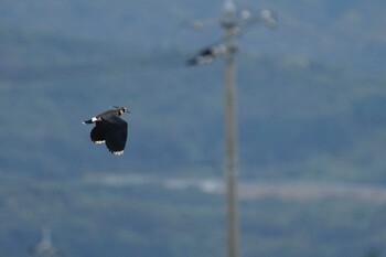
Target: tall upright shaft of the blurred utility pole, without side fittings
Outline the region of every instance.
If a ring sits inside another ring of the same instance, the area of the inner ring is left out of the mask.
[[[225,181],[226,181],[226,256],[238,256],[238,147],[237,147],[237,88],[235,53],[236,7],[232,0],[224,3],[222,26],[225,31]]]

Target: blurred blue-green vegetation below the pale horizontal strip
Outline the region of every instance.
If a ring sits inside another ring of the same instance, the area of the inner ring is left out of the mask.
[[[46,224],[67,256],[224,255],[223,199],[196,190],[8,178],[1,195],[0,249],[10,256],[26,256]],[[363,256],[383,249],[385,203],[266,197],[243,201],[240,210],[244,256]]]

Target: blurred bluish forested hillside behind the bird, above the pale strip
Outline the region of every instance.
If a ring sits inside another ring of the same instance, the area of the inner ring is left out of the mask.
[[[2,36],[4,58],[12,61],[3,64],[1,83],[9,110],[1,114],[4,171],[221,167],[219,62],[194,68],[184,66],[182,53],[118,56],[118,49],[108,53],[52,34],[3,30]],[[245,175],[385,180],[383,75],[246,53],[238,60]],[[112,105],[132,109],[128,154],[119,160],[92,146],[89,128],[79,122]],[[261,173],[251,171],[256,167]],[[275,172],[266,172],[271,167]]]

